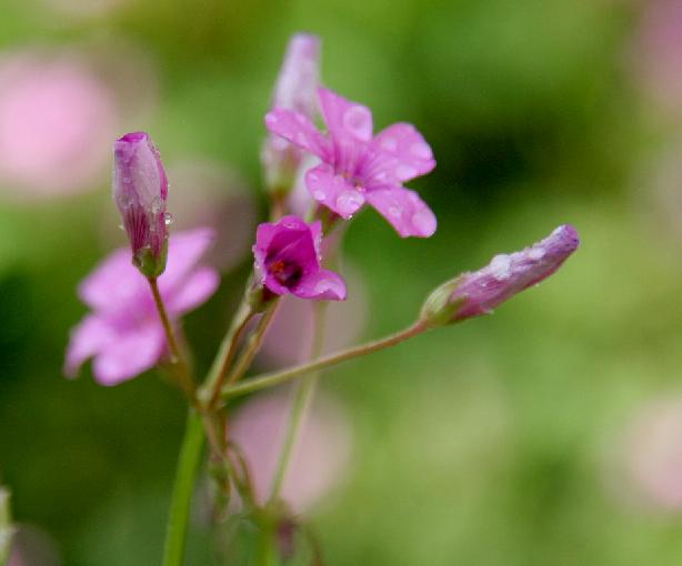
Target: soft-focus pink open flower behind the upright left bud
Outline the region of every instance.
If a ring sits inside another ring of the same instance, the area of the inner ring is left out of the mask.
[[[170,239],[168,269],[159,277],[159,290],[173,322],[218,287],[218,273],[198,266],[212,239],[207,229]],[[71,332],[64,364],[68,376],[76,376],[86,360],[94,357],[97,382],[116,385],[153,367],[166,354],[163,327],[147,281],[130,263],[130,250],[113,252],[78,291],[92,313]]]

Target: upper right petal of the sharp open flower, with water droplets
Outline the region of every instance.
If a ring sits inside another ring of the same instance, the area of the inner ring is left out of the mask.
[[[368,160],[364,176],[377,184],[403,183],[415,176],[430,173],[435,166],[433,152],[421,133],[408,123],[389,125],[379,132],[370,151],[372,159]]]

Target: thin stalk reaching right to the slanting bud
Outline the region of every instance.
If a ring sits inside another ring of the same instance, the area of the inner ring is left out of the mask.
[[[223,401],[228,401],[230,398],[254,393],[281,383],[287,383],[299,377],[300,375],[324,370],[327,367],[331,367],[332,365],[340,364],[341,362],[345,362],[347,360],[364,356],[367,354],[371,354],[372,352],[378,352],[379,350],[394,346],[401,342],[404,342],[405,340],[421,334],[425,330],[428,330],[428,325],[423,321],[418,321],[403,331],[391,334],[390,336],[384,336],[383,338],[379,338],[374,342],[369,342],[360,346],[343,350],[341,352],[320,357],[313,362],[290,367],[289,370],[282,370],[281,372],[272,372],[257,376],[237,385],[228,385],[222,390],[222,398]]]

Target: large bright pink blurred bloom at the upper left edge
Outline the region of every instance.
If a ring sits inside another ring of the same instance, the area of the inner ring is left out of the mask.
[[[79,58],[0,59],[0,185],[13,195],[90,188],[106,169],[118,115],[108,87]]]

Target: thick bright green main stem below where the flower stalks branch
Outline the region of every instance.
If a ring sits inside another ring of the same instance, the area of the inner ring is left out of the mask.
[[[175,483],[166,530],[163,566],[182,566],[190,523],[190,507],[199,461],[203,448],[203,426],[199,414],[190,410],[182,439]]]

